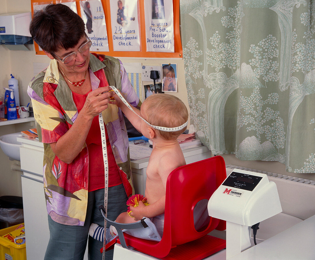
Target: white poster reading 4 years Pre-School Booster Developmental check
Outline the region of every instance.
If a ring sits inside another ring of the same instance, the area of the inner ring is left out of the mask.
[[[146,51],[174,52],[173,1],[144,2]]]

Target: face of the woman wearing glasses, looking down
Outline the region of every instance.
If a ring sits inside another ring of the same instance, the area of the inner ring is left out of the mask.
[[[71,49],[59,49],[57,52],[55,52],[55,54],[60,57],[61,59],[63,59],[64,57],[66,57],[67,55],[69,55],[72,52],[76,52],[83,43],[86,43],[88,41],[88,39],[86,38],[86,36],[84,35],[79,43]],[[57,59],[57,61],[59,62],[59,65],[62,69],[66,70],[66,72],[75,72],[75,73],[80,73],[80,72],[85,72],[88,67],[89,67],[89,61],[90,61],[90,52],[89,49],[86,50],[85,52],[81,53],[81,52],[77,52],[77,56],[73,61],[70,61],[67,64],[62,63],[59,59]]]

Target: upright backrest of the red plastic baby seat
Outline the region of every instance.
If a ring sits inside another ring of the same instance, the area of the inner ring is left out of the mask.
[[[172,246],[203,237],[218,226],[218,219],[208,217],[208,225],[197,231],[194,209],[200,201],[208,213],[208,201],[225,178],[225,162],[221,156],[184,165],[170,173],[166,185],[164,232],[170,227]],[[168,218],[169,227],[165,223]]]

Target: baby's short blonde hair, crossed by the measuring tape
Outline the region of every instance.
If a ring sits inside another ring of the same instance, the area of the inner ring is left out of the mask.
[[[169,94],[153,94],[145,99],[142,106],[145,106],[144,119],[150,124],[162,127],[177,127],[186,123],[188,111],[178,97]],[[154,129],[166,140],[177,139],[187,127],[175,132],[165,132]]]

